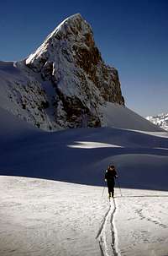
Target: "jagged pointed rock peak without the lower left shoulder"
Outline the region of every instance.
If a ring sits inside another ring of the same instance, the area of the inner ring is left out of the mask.
[[[54,88],[50,104],[60,127],[101,126],[100,105],[124,105],[118,72],[102,61],[92,29],[80,14],[63,21],[25,64]]]

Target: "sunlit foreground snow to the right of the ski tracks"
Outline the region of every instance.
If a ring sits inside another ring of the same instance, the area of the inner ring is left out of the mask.
[[[120,255],[168,255],[168,193],[129,190],[117,200]]]

